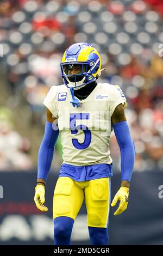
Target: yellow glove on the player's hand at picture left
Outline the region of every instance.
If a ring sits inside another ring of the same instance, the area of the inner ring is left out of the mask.
[[[45,186],[37,185],[35,187],[34,201],[40,211],[48,211],[48,208],[43,205],[43,203],[45,203]]]

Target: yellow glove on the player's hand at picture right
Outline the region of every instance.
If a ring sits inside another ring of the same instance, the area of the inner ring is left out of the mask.
[[[117,201],[120,200],[120,205],[118,209],[115,211],[114,215],[122,214],[122,212],[126,210],[128,205],[128,197],[129,197],[129,188],[120,187],[120,189],[116,193],[111,203],[111,206],[115,206]]]

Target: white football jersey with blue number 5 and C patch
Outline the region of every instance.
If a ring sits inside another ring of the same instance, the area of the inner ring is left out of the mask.
[[[127,106],[119,86],[98,83],[81,107],[73,107],[65,84],[52,86],[43,103],[58,118],[63,163],[87,166],[112,162],[109,150],[111,115],[120,103]]]

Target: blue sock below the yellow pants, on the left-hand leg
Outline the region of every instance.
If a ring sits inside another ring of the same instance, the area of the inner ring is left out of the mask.
[[[71,232],[74,220],[70,217],[54,219],[54,245],[71,245]]]

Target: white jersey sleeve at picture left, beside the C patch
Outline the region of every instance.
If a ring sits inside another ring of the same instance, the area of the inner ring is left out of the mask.
[[[56,86],[52,86],[43,101],[43,104],[51,111],[54,117],[58,117],[56,95],[57,88]]]

